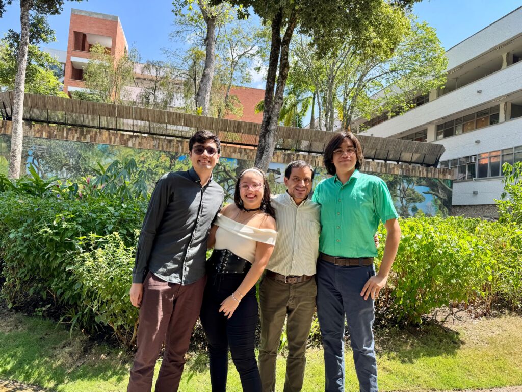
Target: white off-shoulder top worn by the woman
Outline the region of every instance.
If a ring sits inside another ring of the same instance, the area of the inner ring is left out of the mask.
[[[219,226],[214,249],[228,249],[251,263],[256,259],[256,243],[276,245],[276,230],[248,226],[221,214],[214,224]]]

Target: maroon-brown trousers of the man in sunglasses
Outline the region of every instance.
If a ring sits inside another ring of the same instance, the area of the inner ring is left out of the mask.
[[[165,282],[148,273],[139,309],[138,352],[127,392],[147,392],[163,342],[165,353],[156,381],[156,392],[177,391],[185,354],[203,300],[206,276],[185,286]]]

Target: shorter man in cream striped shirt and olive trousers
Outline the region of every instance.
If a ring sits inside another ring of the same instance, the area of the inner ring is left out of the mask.
[[[319,204],[308,199],[314,170],[303,160],[284,171],[287,192],[272,197],[277,244],[259,287],[261,346],[259,372],[263,392],[276,387],[276,358],[287,318],[288,356],[284,392],[300,391],[306,364],[306,340],[315,310],[315,265],[319,248]]]

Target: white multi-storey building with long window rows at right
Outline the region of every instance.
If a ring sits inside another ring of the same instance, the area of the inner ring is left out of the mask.
[[[402,116],[354,125],[364,135],[444,145],[455,169],[452,214],[496,216],[504,162],[522,161],[522,7],[446,52],[447,83]]]

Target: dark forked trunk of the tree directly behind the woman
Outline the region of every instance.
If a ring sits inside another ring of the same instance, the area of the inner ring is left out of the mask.
[[[283,103],[284,86],[287,83],[289,70],[288,48],[290,46],[293,31],[297,24],[295,8],[292,10],[288,21],[288,26],[284,32],[282,40],[279,35],[281,21],[281,13],[276,15],[276,17],[272,20],[272,45],[270,48],[270,59],[268,63],[268,74],[266,80],[265,111],[263,112],[263,122],[261,123],[259,144],[257,147],[256,160],[254,164],[256,167],[265,171],[268,169],[268,165],[270,164],[272,154],[274,154],[274,149],[276,147],[279,112],[281,111],[281,105]],[[277,43],[277,48],[274,47],[274,43]],[[277,57],[279,57],[279,75],[277,76],[277,87],[274,94],[273,91],[276,84],[277,74]]]

